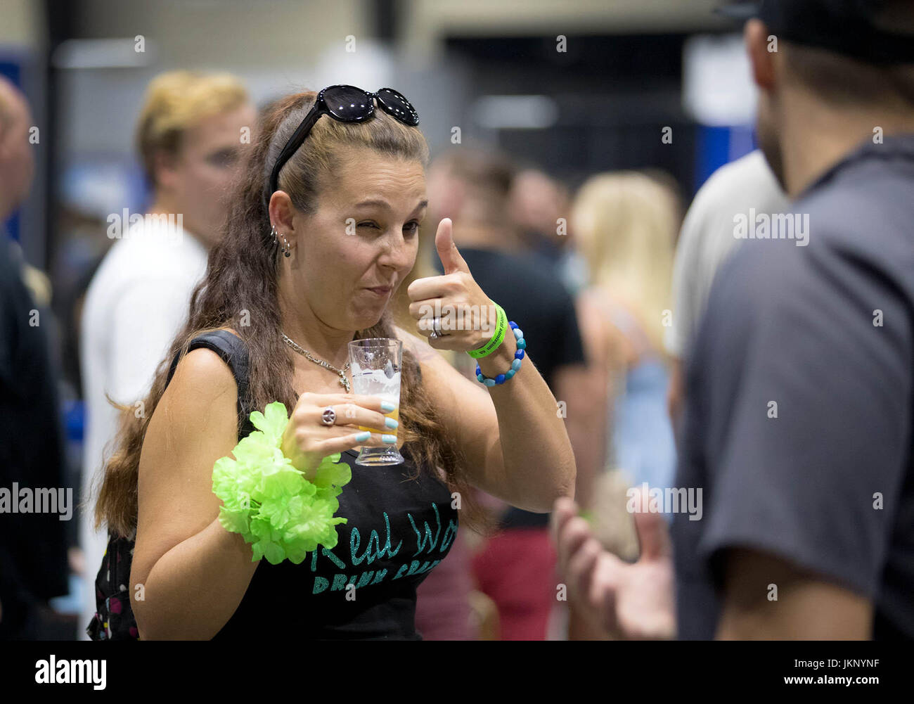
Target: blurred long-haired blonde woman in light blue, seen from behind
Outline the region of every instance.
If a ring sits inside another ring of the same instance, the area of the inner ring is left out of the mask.
[[[673,190],[638,172],[592,176],[580,187],[571,228],[588,262],[581,330],[607,390],[604,466],[632,485],[668,486],[675,470],[665,406],[671,278],[679,206]]]

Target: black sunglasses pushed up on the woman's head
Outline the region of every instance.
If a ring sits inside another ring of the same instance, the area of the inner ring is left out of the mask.
[[[416,109],[392,88],[382,88],[377,93],[370,93],[356,86],[328,86],[317,94],[314,107],[304,116],[302,123],[282,147],[270,175],[270,195],[279,189],[277,180],[282,166],[302,146],[304,138],[311,132],[311,128],[321,115],[330,115],[341,123],[361,123],[375,113],[376,100],[384,112],[397,118],[401,123],[410,127],[419,124],[419,113]]]

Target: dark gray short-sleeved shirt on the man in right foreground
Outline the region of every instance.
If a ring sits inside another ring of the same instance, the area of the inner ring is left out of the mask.
[[[875,637],[914,637],[912,196],[914,134],[867,141],[793,204],[807,246],[747,240],[717,273],[686,358],[676,486],[703,516],[674,517],[681,638],[714,637],[735,547],[865,595]]]

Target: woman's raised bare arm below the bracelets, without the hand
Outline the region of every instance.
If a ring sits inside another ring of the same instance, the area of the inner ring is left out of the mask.
[[[467,459],[479,489],[509,504],[548,513],[558,496],[574,496],[575,461],[558,404],[528,357],[513,379],[484,389],[452,368],[424,340],[396,328],[416,356],[422,383]],[[479,360],[487,377],[511,367],[515,337]],[[557,458],[549,461],[545,458]]]

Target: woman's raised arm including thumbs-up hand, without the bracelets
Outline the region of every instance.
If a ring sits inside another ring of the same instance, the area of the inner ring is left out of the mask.
[[[438,225],[435,249],[444,275],[409,284],[409,315],[419,321],[434,309],[432,304],[440,304],[441,310],[453,306],[453,310],[476,310],[480,314],[489,309],[489,297],[473,281],[454,244],[450,218],[441,219]],[[481,325],[483,321],[476,322]],[[435,346],[461,352],[476,349],[485,341],[481,331],[481,327],[467,325],[436,340]],[[430,347],[433,352],[434,346]],[[486,377],[504,373],[511,368],[516,348],[509,329],[505,341],[479,360],[479,368]],[[525,356],[512,379],[485,389],[463,378],[439,355],[435,357],[443,366],[423,354],[421,347],[417,357],[436,365],[423,374],[423,380],[467,453],[468,471],[477,487],[537,513],[551,511],[559,496],[574,496],[577,469],[569,435],[555,397],[529,357]]]

